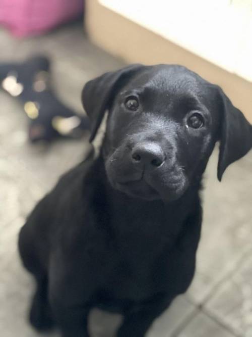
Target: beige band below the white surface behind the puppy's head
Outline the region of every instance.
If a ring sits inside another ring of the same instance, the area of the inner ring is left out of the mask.
[[[233,104],[252,123],[251,82],[106,9],[97,0],[86,0],[86,27],[94,43],[125,62],[181,64],[220,85]]]

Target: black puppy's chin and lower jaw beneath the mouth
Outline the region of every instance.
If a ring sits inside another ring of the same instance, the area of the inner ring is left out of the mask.
[[[159,190],[151,185],[149,185],[145,180],[137,180],[137,181],[128,181],[128,182],[118,182],[111,181],[112,186],[123,192],[127,196],[131,198],[138,198],[146,201],[153,200],[163,200],[166,202],[171,202],[179,199],[183,194],[181,186],[172,185],[165,190]]]

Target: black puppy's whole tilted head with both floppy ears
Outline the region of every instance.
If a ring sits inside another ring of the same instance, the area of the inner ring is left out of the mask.
[[[108,110],[103,156],[111,185],[173,201],[198,185],[220,141],[218,179],[252,146],[252,126],[222,89],[176,65],[132,65],[89,81],[91,140]]]

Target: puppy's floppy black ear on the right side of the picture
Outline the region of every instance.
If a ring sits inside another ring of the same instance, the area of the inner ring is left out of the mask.
[[[218,87],[221,98],[222,122],[220,125],[220,152],[218,179],[228,165],[245,156],[252,147],[252,125],[240,110],[235,108],[223,90]]]

